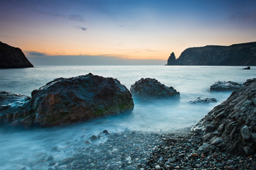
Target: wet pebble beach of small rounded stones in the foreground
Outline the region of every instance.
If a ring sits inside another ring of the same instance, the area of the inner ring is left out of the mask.
[[[101,137],[99,137],[101,135]],[[255,169],[255,156],[234,156],[215,147],[198,152],[202,137],[188,130],[100,133],[98,140],[81,140],[72,157],[48,157],[48,170],[67,169]],[[105,141],[105,142],[102,142]],[[102,154],[104,153],[104,154]]]

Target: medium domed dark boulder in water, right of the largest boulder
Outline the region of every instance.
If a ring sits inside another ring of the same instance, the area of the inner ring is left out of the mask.
[[[179,95],[172,86],[168,87],[161,84],[156,79],[140,79],[132,84],[130,91],[137,97],[168,97]]]

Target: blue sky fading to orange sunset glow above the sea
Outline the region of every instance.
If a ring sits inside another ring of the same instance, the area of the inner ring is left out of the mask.
[[[255,0],[0,0],[0,41],[39,63],[166,63],[188,47],[256,41],[255,8]]]

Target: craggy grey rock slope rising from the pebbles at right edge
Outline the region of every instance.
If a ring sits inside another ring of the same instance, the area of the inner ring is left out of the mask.
[[[232,154],[256,154],[256,79],[213,108],[194,128],[202,130],[209,147],[221,147]]]

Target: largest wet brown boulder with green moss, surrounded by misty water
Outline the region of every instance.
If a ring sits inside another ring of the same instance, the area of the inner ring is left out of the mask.
[[[132,94],[117,79],[87,74],[54,79],[34,90],[31,99],[19,105],[0,106],[0,124],[48,127],[119,114],[133,108]]]

